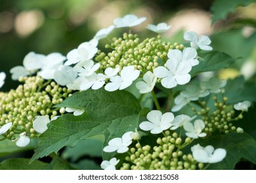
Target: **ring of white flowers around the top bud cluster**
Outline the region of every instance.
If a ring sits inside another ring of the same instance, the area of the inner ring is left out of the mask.
[[[59,53],[44,56],[30,52],[24,58],[23,66],[11,69],[12,79],[17,80],[20,76],[37,73],[46,80],[53,79],[61,86],[72,90],[88,90],[89,88],[98,90],[103,86],[109,92],[124,90],[137,80],[140,71],[132,65],[122,69],[118,66],[116,68],[108,67],[103,72],[99,71],[100,63],[93,61],[98,52],[98,41],[106,38],[115,28],[133,27],[145,20],[145,17],[138,18],[133,14],[116,18],[114,25],[100,29],[91,41],[81,43],[77,48],[68,52],[66,57]],[[170,27],[170,25],[160,23],[158,25],[149,24],[146,28],[156,33],[163,33]],[[158,78],[161,79],[161,84],[165,88],[174,88],[177,84],[187,84],[190,81],[189,72],[193,66],[199,63],[196,48],[211,50],[211,46],[209,46],[211,41],[206,36],[198,39],[194,32],[185,33],[184,39],[191,42],[192,48],[185,48],[183,51],[169,50],[165,65],[156,67],[153,73],[148,71],[142,76],[143,81],[137,82],[136,87],[140,93],[151,92]]]

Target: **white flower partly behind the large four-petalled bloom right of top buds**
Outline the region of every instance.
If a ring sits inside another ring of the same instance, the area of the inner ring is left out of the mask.
[[[191,66],[199,64],[198,59],[196,59],[198,57],[198,52],[196,52],[194,48],[185,48],[182,52],[181,50],[169,50],[167,56],[170,61],[185,61],[186,64],[189,62]]]

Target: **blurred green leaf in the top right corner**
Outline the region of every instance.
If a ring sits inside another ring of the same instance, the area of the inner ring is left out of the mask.
[[[213,12],[212,21],[215,22],[224,19],[228,13],[234,12],[236,7],[245,7],[253,2],[255,2],[255,0],[215,0],[211,6],[211,11]]]

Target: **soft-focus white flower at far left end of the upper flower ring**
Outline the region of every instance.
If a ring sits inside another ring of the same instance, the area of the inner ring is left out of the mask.
[[[45,56],[42,54],[35,54],[35,52],[28,53],[23,59],[23,66],[13,67],[10,71],[12,80],[18,80],[21,76],[32,75],[43,67]]]

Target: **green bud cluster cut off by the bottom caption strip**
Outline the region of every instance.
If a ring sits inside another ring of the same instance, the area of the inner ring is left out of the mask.
[[[192,154],[183,154],[182,148],[192,140],[186,137],[182,140],[176,132],[164,132],[164,137],[158,137],[156,146],[142,146],[140,142],[130,148],[129,154],[120,169],[132,170],[182,170],[203,169],[203,164],[194,160]]]

